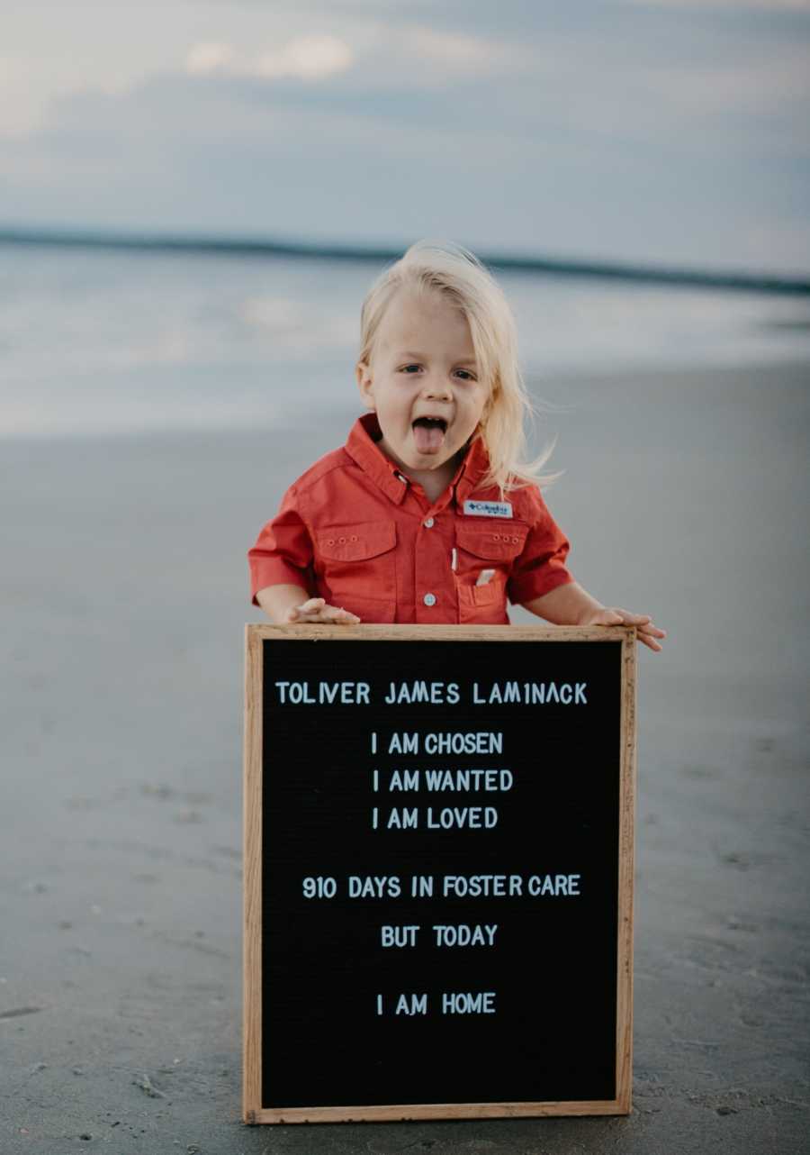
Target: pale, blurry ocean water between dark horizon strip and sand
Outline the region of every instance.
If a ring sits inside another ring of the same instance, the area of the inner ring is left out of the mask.
[[[380,266],[0,245],[0,437],[252,429],[354,404]],[[558,379],[810,359],[810,303],[496,273],[522,367]]]

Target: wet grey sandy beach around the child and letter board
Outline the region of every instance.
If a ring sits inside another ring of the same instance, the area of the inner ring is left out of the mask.
[[[295,427],[2,442],[0,1147],[810,1152],[810,364],[542,390],[571,571],[669,632],[639,654],[633,1113],[241,1123],[246,551],[351,389]]]

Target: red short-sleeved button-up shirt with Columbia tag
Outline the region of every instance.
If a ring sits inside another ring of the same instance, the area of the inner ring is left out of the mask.
[[[361,621],[508,624],[507,598],[530,602],[573,581],[569,543],[534,485],[481,487],[480,438],[433,504],[385,456],[367,413],[340,449],[284,494],[248,552],[253,604],[294,584]]]

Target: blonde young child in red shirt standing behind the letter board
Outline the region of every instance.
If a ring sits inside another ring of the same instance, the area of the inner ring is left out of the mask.
[[[507,601],[557,625],[632,625],[565,567],[569,543],[524,463],[528,396],[515,321],[467,249],[419,241],[373,284],[357,364],[370,410],[290,486],[248,552],[276,623],[508,624]]]

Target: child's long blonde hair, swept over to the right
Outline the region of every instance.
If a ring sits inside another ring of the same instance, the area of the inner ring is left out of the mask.
[[[360,312],[360,356],[370,364],[385,310],[393,296],[407,289],[447,296],[470,326],[480,379],[488,383],[479,433],[489,456],[485,485],[505,490],[548,485],[561,472],[541,475],[554,442],[534,461],[524,461],[526,418],[537,411],[518,365],[517,327],[503,290],[479,259],[452,241],[418,240],[376,278]]]

